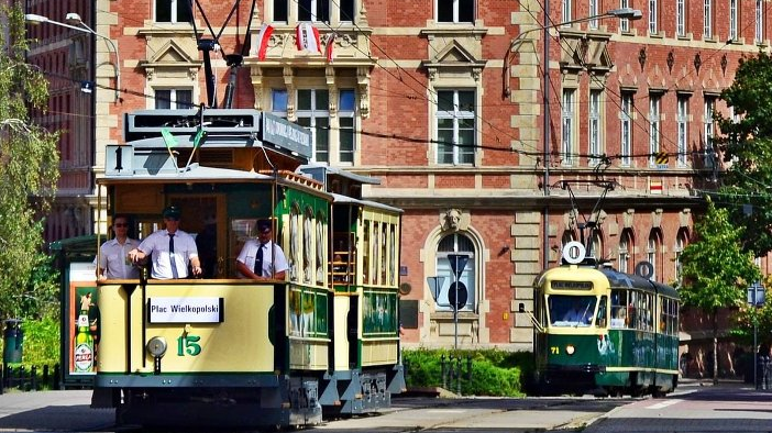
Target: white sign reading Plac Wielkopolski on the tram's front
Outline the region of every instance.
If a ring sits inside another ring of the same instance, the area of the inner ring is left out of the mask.
[[[148,298],[150,323],[222,323],[223,298]]]

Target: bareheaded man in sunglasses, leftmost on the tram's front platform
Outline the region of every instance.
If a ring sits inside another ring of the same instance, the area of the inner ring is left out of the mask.
[[[99,254],[93,258],[97,265],[97,279],[136,279],[137,269],[129,259],[129,252],[140,246],[140,241],[129,237],[129,218],[115,215],[112,219],[112,231],[115,238],[107,241],[99,247]]]

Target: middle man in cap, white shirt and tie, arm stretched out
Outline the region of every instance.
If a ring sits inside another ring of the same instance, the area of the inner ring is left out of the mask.
[[[145,237],[140,246],[129,252],[129,259],[133,263],[143,263],[147,256],[152,257],[151,278],[188,278],[188,264],[192,265],[194,276],[201,275],[196,241],[179,230],[179,208],[166,207],[163,212],[166,229]]]

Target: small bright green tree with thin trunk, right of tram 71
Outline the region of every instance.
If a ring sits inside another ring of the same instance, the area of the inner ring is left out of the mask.
[[[695,223],[696,241],[681,256],[683,282],[680,288],[685,307],[701,310],[712,323],[713,358],[718,360],[718,320],[723,308],[741,307],[748,286],[761,278],[753,254],[743,252],[742,227],[735,226],[726,209],[708,199],[707,213]],[[714,381],[718,363],[713,363]]]

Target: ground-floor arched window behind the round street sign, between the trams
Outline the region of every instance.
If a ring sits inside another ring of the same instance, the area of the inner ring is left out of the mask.
[[[444,277],[442,288],[440,288],[440,296],[437,298],[437,310],[438,311],[452,311],[450,307],[450,301],[448,300],[448,293],[451,288],[455,287],[455,275],[452,270],[452,265],[449,256],[452,255],[466,255],[468,260],[461,273],[459,278],[459,288],[466,288],[466,303],[459,309],[459,311],[476,311],[476,288],[475,288],[475,251],[472,241],[463,234],[453,233],[449,234],[440,240],[440,244],[437,247],[437,276]],[[459,262],[459,267],[461,262]],[[456,268],[457,270],[457,268]],[[461,299],[462,296],[459,296]]]

